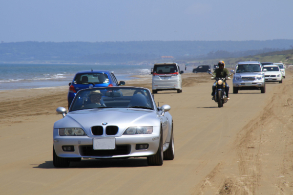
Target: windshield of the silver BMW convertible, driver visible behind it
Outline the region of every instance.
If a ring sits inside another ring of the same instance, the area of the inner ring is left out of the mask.
[[[70,111],[93,108],[144,108],[154,110],[150,92],[138,87],[98,87],[81,90]]]

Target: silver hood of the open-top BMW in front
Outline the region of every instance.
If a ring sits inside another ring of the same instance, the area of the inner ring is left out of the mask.
[[[97,108],[69,112],[63,119],[56,121],[54,128],[82,128],[91,137],[93,126],[118,126],[117,135],[132,126],[160,126],[156,111],[137,108]]]

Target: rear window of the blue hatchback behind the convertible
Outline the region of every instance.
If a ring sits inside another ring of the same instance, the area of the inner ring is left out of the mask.
[[[77,74],[74,78],[75,84],[84,84],[88,82],[94,83],[95,85],[109,83],[109,77],[105,73],[82,73]]]

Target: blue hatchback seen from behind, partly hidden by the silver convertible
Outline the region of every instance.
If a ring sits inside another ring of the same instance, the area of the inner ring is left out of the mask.
[[[93,87],[117,87],[125,85],[124,81],[118,83],[115,75],[108,70],[85,70],[79,71],[69,83],[68,108],[70,107],[76,93],[85,88]]]

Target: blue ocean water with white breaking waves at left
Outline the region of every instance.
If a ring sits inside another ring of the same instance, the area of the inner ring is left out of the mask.
[[[0,64],[0,90],[68,86],[81,70],[110,70],[118,82],[149,74],[152,65]]]

